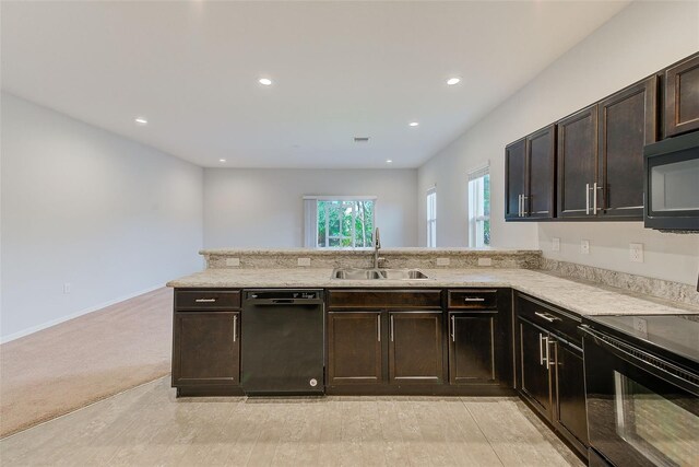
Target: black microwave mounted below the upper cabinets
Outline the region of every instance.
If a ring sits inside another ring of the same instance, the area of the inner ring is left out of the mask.
[[[699,232],[699,131],[643,148],[647,227]]]

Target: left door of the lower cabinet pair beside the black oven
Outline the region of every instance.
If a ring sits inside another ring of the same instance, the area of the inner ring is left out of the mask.
[[[546,361],[548,332],[519,319],[520,389],[524,396],[550,419],[550,383]]]

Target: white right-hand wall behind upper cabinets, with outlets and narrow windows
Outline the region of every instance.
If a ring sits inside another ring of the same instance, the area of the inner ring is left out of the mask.
[[[633,2],[570,49],[418,171],[419,244],[424,192],[437,184],[437,245],[466,245],[466,172],[490,160],[494,246],[541,246],[552,258],[696,283],[699,235],[661,234],[641,222],[506,223],[505,145],[699,50],[699,2]],[[550,238],[561,238],[561,252]],[[579,241],[591,254],[580,255]],[[645,262],[629,261],[629,242]]]

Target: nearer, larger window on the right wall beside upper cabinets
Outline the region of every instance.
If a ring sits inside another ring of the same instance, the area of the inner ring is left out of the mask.
[[[490,245],[489,166],[469,174],[469,246]]]

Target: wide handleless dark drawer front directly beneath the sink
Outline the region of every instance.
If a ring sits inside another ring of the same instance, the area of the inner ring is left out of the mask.
[[[440,290],[330,290],[330,308],[440,308]]]

